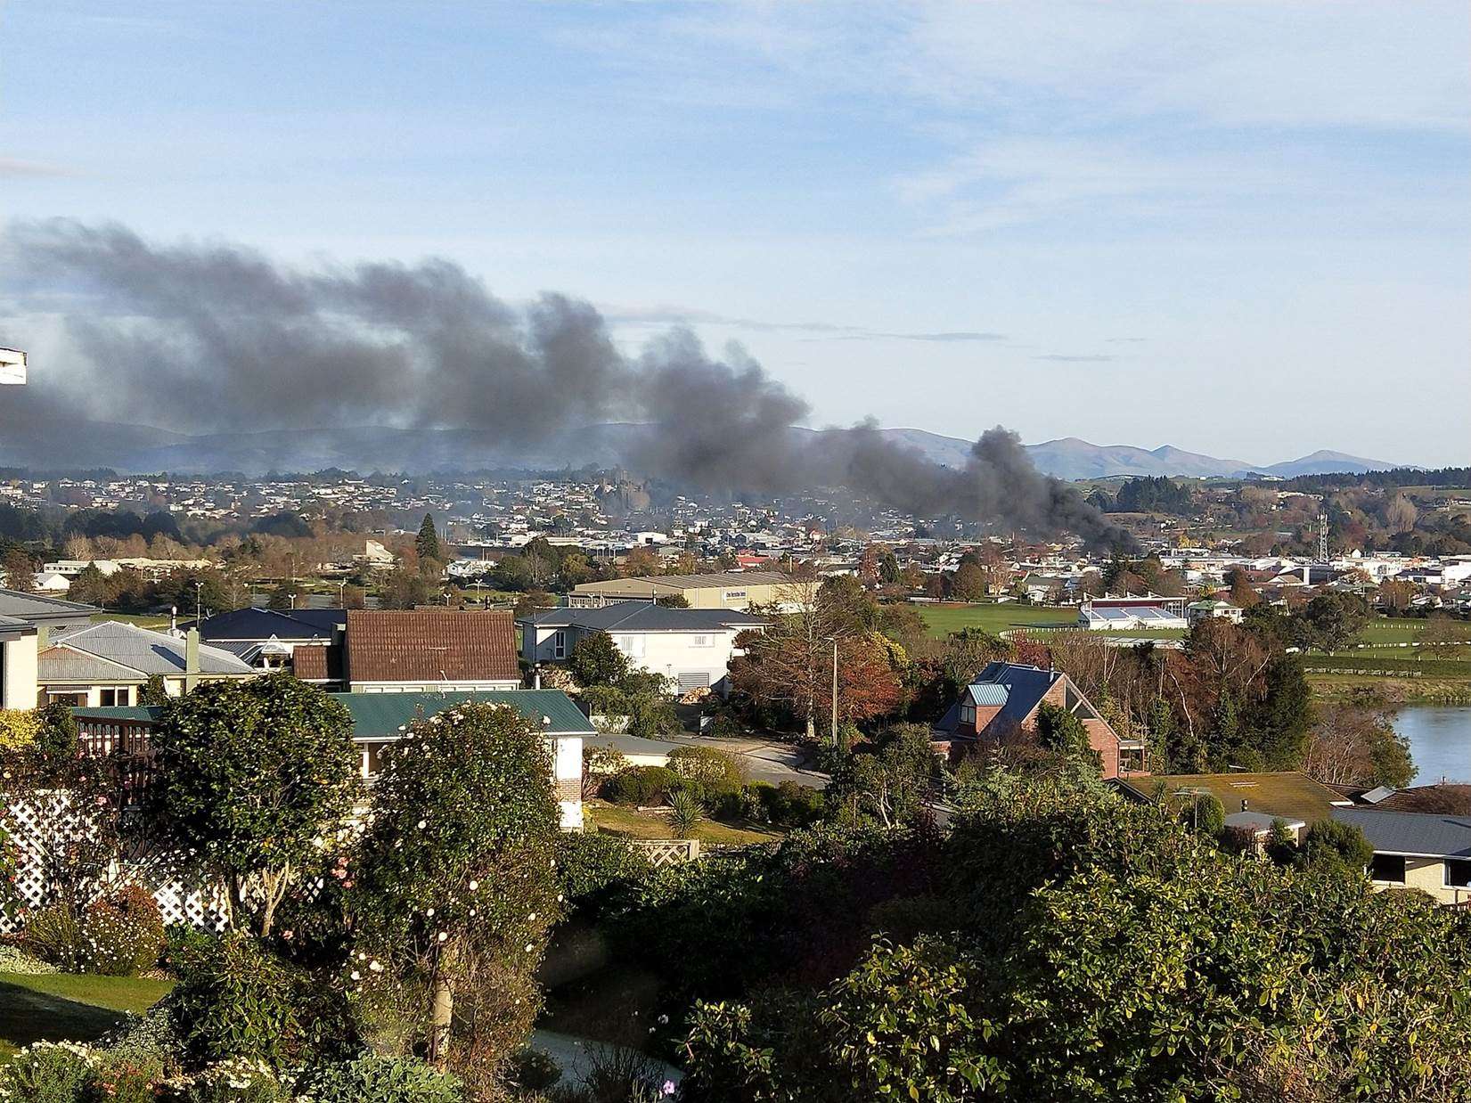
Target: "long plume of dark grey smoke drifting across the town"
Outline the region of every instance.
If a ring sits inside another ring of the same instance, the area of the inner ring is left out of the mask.
[[[547,294],[516,309],[447,260],[304,271],[232,244],[159,246],[118,225],[49,221],[7,229],[0,271],[22,301],[65,296],[84,353],[50,393],[25,397],[29,418],[66,410],[184,432],[457,428],[507,446],[630,418],[647,425],[628,465],[694,488],[847,487],[919,516],[1127,543],[1039,474],[1014,432],[987,431],[959,469],[872,422],[799,432],[808,403],[738,347],[713,359],[678,328],[628,359],[588,303]]]

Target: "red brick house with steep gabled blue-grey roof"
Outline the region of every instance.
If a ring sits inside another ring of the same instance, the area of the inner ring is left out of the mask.
[[[1143,769],[1143,743],[1121,738],[1066,674],[1024,663],[987,663],[934,727],[934,737],[952,753],[1034,738],[1037,712],[1044,703],[1066,709],[1083,722],[1105,778]]]

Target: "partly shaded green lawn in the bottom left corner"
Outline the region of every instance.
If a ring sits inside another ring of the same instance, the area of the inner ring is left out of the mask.
[[[94,1041],[172,987],[141,977],[0,972],[0,1057],[32,1041]]]

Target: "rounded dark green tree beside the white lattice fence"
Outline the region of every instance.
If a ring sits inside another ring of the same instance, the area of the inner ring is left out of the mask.
[[[288,674],[206,682],[163,709],[153,738],[154,827],[218,875],[235,922],[269,935],[318,840],[350,812],[353,718]]]

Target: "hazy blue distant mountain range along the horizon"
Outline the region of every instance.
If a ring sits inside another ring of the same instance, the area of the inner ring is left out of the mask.
[[[637,425],[590,425],[552,437],[534,449],[510,449],[485,432],[474,429],[391,429],[381,426],[324,429],[265,429],[259,432],[213,432],[185,435],[146,425],[78,421],[44,428],[12,426],[0,435],[0,465],[47,468],[113,468],[125,472],[179,471],[319,471],[346,468],[369,471],[471,471],[475,468],[515,468],[555,471],[588,463],[616,466],[625,454]],[[808,434],[812,429],[796,428]],[[971,441],[941,437],[924,429],[880,429],[888,440],[908,444],[927,459],[958,468],[965,463]],[[1137,449],[1128,444],[1090,444],[1064,437],[1028,444],[1027,451],[1039,469],[1064,479],[1109,478],[1116,475],[1211,475],[1247,474],[1324,475],[1384,471],[1387,460],[1349,456],[1342,451],[1314,451],[1281,463],[1253,465],[1244,460],[1217,459],[1169,444]]]

